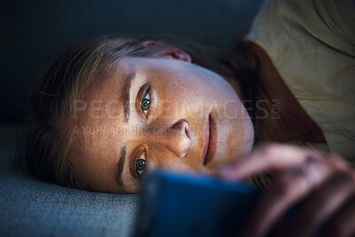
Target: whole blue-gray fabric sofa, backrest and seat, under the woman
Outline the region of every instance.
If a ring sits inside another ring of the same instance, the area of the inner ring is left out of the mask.
[[[130,236],[138,194],[45,183],[16,170],[16,128],[43,67],[69,44],[113,33],[232,48],[263,0],[1,1],[0,236]]]

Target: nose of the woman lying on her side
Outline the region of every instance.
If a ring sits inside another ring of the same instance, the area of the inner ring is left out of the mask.
[[[189,123],[185,119],[181,119],[172,126],[154,126],[151,128],[148,140],[155,145],[165,146],[177,157],[182,158],[187,154],[192,144],[190,133]]]

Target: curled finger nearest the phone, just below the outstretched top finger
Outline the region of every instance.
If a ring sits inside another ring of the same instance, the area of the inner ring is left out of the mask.
[[[317,180],[309,182],[304,173],[298,172],[284,177],[279,184],[264,192],[256,202],[255,208],[248,217],[241,236],[264,236],[280,217],[298,201],[310,194],[314,188],[322,184],[335,169],[326,162],[313,163],[307,170],[317,174]]]

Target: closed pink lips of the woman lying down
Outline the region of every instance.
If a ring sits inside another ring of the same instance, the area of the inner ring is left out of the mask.
[[[211,115],[209,115],[209,120],[205,128],[205,143],[203,147],[203,165],[209,164],[216,154],[217,146],[217,126],[216,122]]]

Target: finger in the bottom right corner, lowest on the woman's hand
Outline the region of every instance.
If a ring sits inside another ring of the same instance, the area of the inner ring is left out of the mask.
[[[355,196],[343,204],[321,230],[327,237],[355,236]]]

